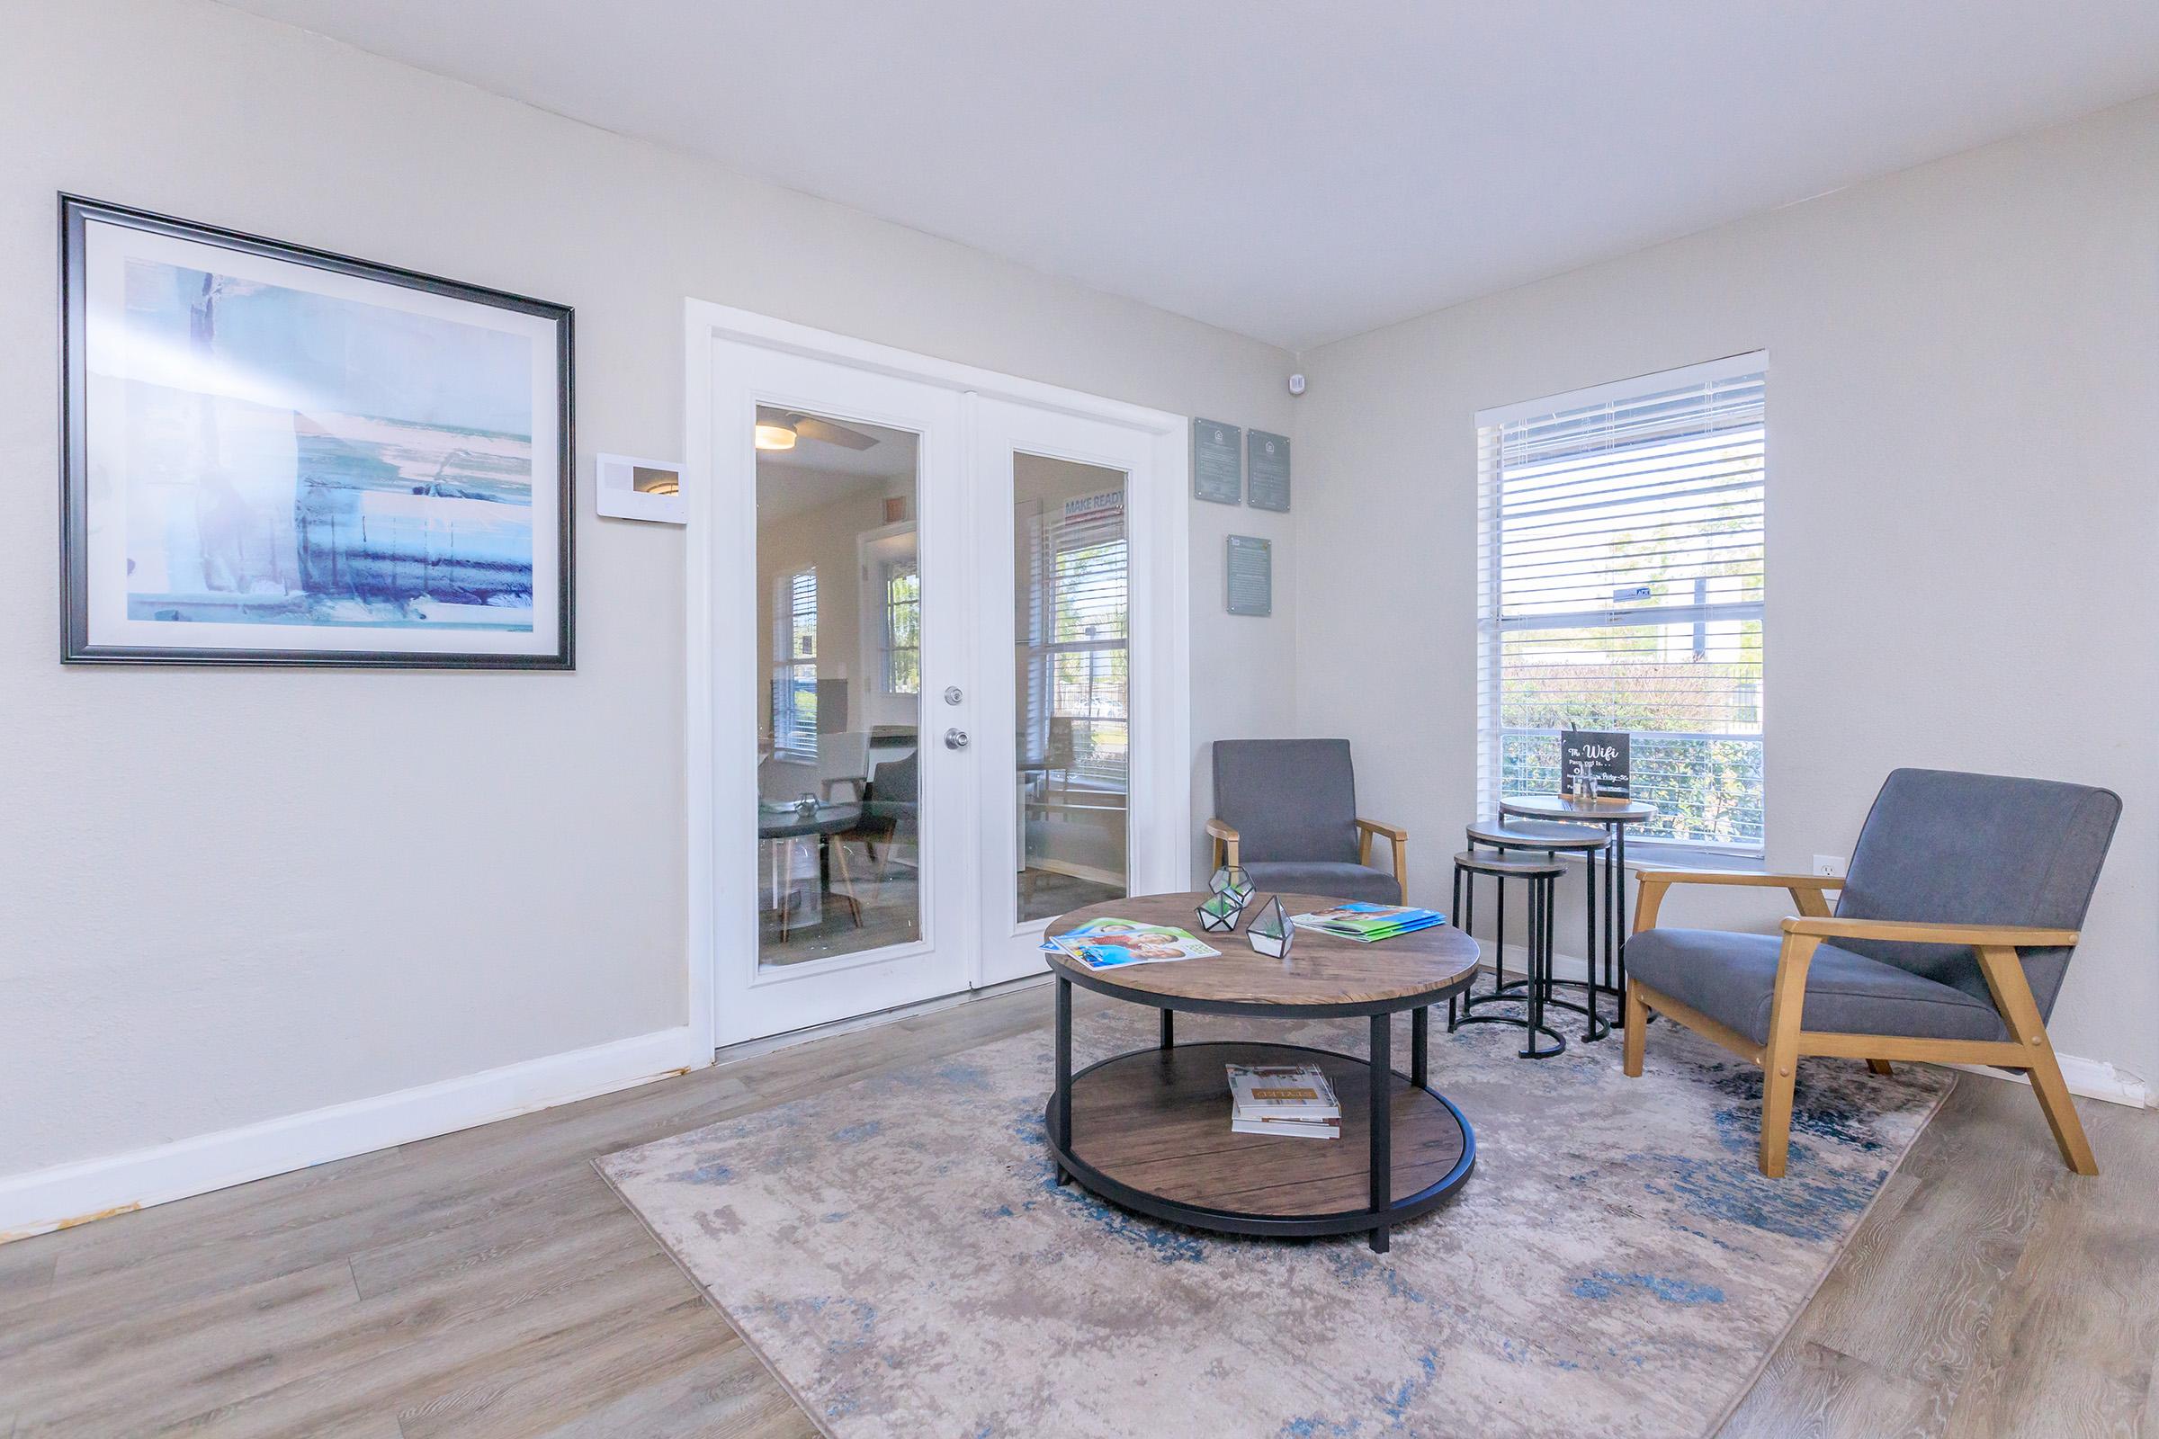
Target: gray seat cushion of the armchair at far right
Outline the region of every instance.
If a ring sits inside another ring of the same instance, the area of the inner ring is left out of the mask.
[[[1626,943],[1626,971],[1658,995],[1766,1044],[1781,943],[1779,934],[1643,930]],[[1835,945],[1814,951],[1801,1025],[1827,1033],[1896,1033],[1919,1040],[2010,1038],[1993,1003]]]

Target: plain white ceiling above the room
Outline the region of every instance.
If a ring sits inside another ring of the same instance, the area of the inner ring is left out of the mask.
[[[2155,0],[227,0],[1287,347],[2159,91]]]

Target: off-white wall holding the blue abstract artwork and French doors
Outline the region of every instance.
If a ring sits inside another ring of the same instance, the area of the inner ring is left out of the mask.
[[[300,30],[0,26],[0,1178],[687,1020],[682,531],[589,498],[680,453],[687,296],[1289,429],[1267,345]],[[576,306],[576,673],[63,669],[58,190]],[[1196,509],[1203,751],[1274,725],[1293,589],[1222,615],[1285,526]]]

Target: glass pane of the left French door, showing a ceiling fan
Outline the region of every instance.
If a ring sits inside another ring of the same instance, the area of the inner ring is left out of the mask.
[[[758,964],[922,938],[918,436],[758,408]]]

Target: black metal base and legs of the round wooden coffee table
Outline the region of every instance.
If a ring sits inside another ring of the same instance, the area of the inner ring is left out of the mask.
[[[1246,1210],[1224,1210],[1209,1208],[1200,1204],[1185,1204],[1179,1200],[1168,1200],[1144,1189],[1136,1189],[1116,1180],[1086,1161],[1084,1154],[1073,1146],[1073,1085],[1092,1074],[1099,1068],[1129,1059],[1127,1055],[1114,1055],[1099,1064],[1090,1064],[1080,1074],[1073,1074],[1071,1066],[1071,979],[1058,975],[1058,997],[1056,997],[1056,1087],[1049,1094],[1049,1102],[1043,1107],[1043,1126],[1049,1139],[1049,1156],[1056,1163],[1056,1182],[1064,1184],[1069,1180],[1080,1180],[1080,1187],[1092,1195],[1116,1204],[1118,1208],[1129,1208],[1138,1215],[1151,1219],[1166,1219],[1170,1223],[1190,1225],[1194,1230],[1213,1230],[1218,1234],[1254,1234],[1272,1238],[1317,1238],[1330,1234],[1367,1234],[1373,1253],[1386,1253],[1390,1243],[1390,1230],[1397,1223],[1406,1223],[1421,1215],[1431,1212],[1444,1204],[1464,1180],[1468,1180],[1470,1169],[1477,1167],[1477,1135],[1470,1130],[1470,1122],[1462,1115],[1451,1098],[1431,1089],[1427,1079],[1425,1042],[1429,1033],[1427,1010],[1418,1008],[1410,1012],[1410,1074],[1408,1083],[1423,1089],[1427,1096],[1438,1100],[1453,1122],[1462,1126],[1462,1159],[1434,1184],[1418,1189],[1412,1195],[1393,1195],[1395,1176],[1395,1122],[1393,1122],[1393,1081],[1403,1079],[1393,1066],[1393,1014],[1373,1014],[1369,1018],[1371,1040],[1369,1057],[1358,1059],[1356,1055],[1343,1055],[1336,1051],[1311,1049],[1306,1044],[1276,1044],[1285,1053],[1319,1055],[1326,1059],[1339,1059],[1345,1064],[1358,1064],[1369,1068],[1369,1171],[1371,1171],[1371,1193],[1367,1208],[1341,1210],[1334,1215],[1265,1215]],[[1157,1049],[1174,1046],[1174,1020],[1170,1010],[1162,1010],[1162,1040]],[[1194,1044],[1192,1049],[1203,1049]],[[1272,1143],[1272,1141],[1269,1141]],[[1326,1143],[1326,1141],[1306,1141]]]

